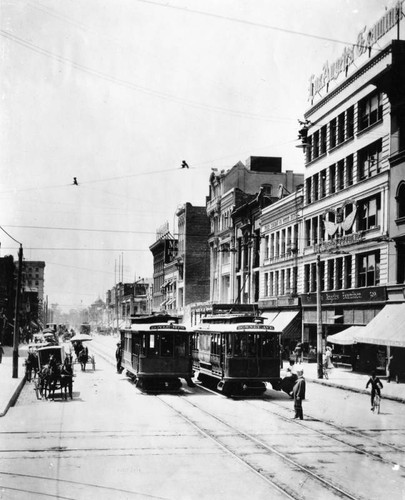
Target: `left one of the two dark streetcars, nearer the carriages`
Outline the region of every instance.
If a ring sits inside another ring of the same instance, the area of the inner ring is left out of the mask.
[[[176,391],[185,379],[193,386],[192,330],[168,315],[139,316],[121,330],[122,367],[144,391]]]

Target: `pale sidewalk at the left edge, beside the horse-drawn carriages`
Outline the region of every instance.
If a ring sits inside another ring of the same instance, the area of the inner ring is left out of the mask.
[[[10,406],[16,402],[25,383],[25,366],[27,346],[20,345],[18,349],[18,378],[13,378],[13,348],[3,346],[3,360],[0,363],[0,417],[3,417]]]

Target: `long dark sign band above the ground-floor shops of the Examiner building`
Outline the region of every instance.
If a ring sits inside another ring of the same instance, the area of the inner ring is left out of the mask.
[[[357,302],[385,302],[387,291],[384,286],[357,288],[353,290],[335,290],[321,292],[321,304],[352,304]],[[316,305],[316,293],[303,293],[301,303],[305,306]]]

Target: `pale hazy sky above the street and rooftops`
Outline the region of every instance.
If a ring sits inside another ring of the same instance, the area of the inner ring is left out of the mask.
[[[151,278],[157,229],[205,205],[212,168],[304,172],[310,76],[392,5],[0,0],[0,256],[45,261],[66,312]]]

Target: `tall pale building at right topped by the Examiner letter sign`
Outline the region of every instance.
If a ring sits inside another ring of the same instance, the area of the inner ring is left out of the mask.
[[[403,32],[402,4],[311,77],[298,288],[303,340],[315,345],[318,277],[324,340],[367,325],[389,301],[388,286],[404,282],[405,41],[392,40]],[[385,348],[364,333],[362,367],[383,370]]]

